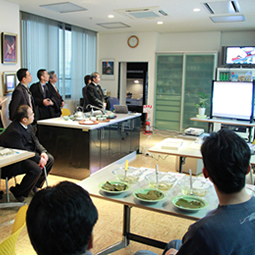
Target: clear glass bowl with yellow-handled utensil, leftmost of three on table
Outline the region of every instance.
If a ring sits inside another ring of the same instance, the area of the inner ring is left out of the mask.
[[[138,182],[142,174],[142,171],[136,167],[128,167],[127,172],[125,174],[125,167],[118,167],[115,170],[113,170],[112,173],[116,176],[117,180],[129,184],[134,184]]]

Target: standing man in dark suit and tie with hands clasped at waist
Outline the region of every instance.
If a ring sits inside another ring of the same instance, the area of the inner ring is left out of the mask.
[[[49,74],[45,69],[40,69],[37,72],[39,82],[34,83],[30,87],[30,91],[35,100],[35,105],[38,107],[38,120],[54,118],[56,108],[58,107],[54,99],[54,88],[47,84]]]

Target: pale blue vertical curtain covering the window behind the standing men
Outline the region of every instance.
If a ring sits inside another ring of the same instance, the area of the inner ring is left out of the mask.
[[[55,71],[60,94],[77,104],[84,76],[96,71],[97,33],[24,12],[21,20],[22,67],[28,68],[33,83],[39,69]]]

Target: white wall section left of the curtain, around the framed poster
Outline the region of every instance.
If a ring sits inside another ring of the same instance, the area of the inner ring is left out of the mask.
[[[16,72],[20,68],[21,54],[20,54],[20,22],[19,22],[19,5],[0,0],[0,32],[9,32],[18,35],[17,54],[18,59],[16,64],[2,64],[0,63],[0,96],[4,94],[3,72]],[[2,47],[2,45],[1,45]],[[2,58],[2,56],[1,56]],[[8,94],[8,102],[2,106],[2,121],[4,126],[9,124],[8,104],[11,94]]]

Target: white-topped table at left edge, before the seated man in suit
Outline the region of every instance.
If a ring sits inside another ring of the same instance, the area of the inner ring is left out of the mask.
[[[4,149],[3,147],[0,147],[0,152],[3,149]],[[31,158],[35,155],[34,152],[30,152],[30,151],[23,151],[23,150],[16,150],[16,149],[12,149],[12,150],[15,152],[15,154],[10,154],[5,156],[0,155],[0,168]],[[0,173],[0,177],[1,177],[1,173]],[[9,191],[7,190],[6,192],[9,192]],[[25,203],[20,203],[20,202],[0,203],[0,208],[22,206],[24,204]]]

